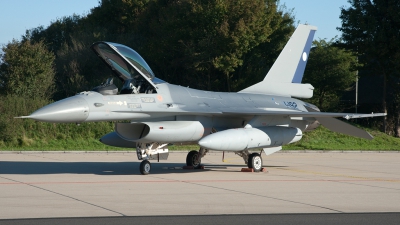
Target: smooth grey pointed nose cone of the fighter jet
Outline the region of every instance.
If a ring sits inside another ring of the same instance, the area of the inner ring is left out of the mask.
[[[89,116],[89,106],[85,99],[73,96],[54,102],[25,118],[53,123],[79,123]]]

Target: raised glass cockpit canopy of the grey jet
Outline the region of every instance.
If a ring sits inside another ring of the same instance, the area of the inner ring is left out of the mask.
[[[154,76],[146,61],[133,49],[112,42],[96,42],[91,48],[124,82],[121,94],[156,92],[156,84],[165,81]]]

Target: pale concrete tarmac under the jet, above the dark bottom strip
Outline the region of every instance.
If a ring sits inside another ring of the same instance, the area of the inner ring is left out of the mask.
[[[278,152],[262,173],[232,153],[207,154],[204,170],[185,158],[143,176],[135,153],[0,152],[0,219],[400,212],[398,152]]]

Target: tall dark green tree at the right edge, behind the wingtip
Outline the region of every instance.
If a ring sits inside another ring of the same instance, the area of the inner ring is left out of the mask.
[[[400,1],[348,0],[342,8],[342,46],[357,53],[360,75],[381,81],[382,131],[400,136]],[[378,82],[377,82],[378,83]],[[379,85],[379,84],[376,84]]]

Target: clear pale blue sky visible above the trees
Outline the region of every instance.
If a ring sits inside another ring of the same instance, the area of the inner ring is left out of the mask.
[[[348,7],[347,0],[280,0],[293,9],[296,24],[307,23],[318,27],[315,39],[340,37],[336,27],[341,25],[340,7]],[[20,40],[28,29],[47,27],[51,21],[74,13],[83,15],[99,5],[99,0],[0,0],[0,46],[12,39]]]

